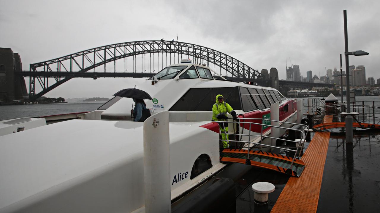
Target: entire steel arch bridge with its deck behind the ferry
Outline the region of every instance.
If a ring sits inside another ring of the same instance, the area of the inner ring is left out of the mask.
[[[151,77],[170,64],[189,58],[195,64],[209,66],[227,80],[252,82],[260,86],[273,86],[280,91],[289,88],[333,86],[320,83],[279,81],[261,75],[242,61],[201,45],[178,41],[133,41],[105,45],[84,50],[52,60],[30,64],[29,70],[15,72],[19,77],[29,77],[29,101],[35,101],[71,78],[100,77]],[[216,76],[217,77],[217,76]],[[276,86],[274,86],[274,81]],[[38,88],[36,85],[39,85]],[[36,89],[40,91],[36,91]]]

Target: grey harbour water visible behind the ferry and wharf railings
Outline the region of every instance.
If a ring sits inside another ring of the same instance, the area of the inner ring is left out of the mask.
[[[322,97],[319,97],[322,98]],[[337,97],[340,100],[340,97]],[[305,99],[305,98],[302,98]],[[345,100],[345,97],[344,99]],[[376,101],[380,96],[358,96],[357,101]],[[75,103],[51,103],[36,105],[11,105],[0,106],[0,121],[18,117],[37,117],[54,114],[77,113],[96,110],[105,102],[75,102]],[[361,103],[358,103],[361,104]],[[380,103],[377,103],[380,104]],[[378,106],[380,107],[380,106]],[[303,112],[307,108],[304,107]],[[380,113],[380,112],[377,112]]]

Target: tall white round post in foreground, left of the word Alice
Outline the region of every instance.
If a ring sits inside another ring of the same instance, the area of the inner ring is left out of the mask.
[[[169,112],[144,121],[145,212],[171,212]]]

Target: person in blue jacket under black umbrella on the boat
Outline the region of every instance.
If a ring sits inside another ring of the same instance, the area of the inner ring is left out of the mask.
[[[148,117],[150,117],[150,111],[146,108],[146,104],[143,99],[149,99],[152,100],[152,97],[149,96],[149,94],[145,91],[142,91],[141,89],[135,88],[128,88],[128,89],[122,89],[119,92],[116,92],[114,96],[119,97],[125,97],[125,98],[131,98],[136,103],[135,108],[131,110],[131,113],[133,114],[133,117],[135,118],[134,121],[145,121]],[[133,102],[132,102],[133,105]]]

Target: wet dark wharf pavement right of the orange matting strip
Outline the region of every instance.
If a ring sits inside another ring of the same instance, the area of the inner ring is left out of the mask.
[[[380,133],[331,132],[317,212],[380,212]]]

